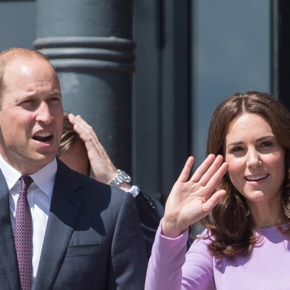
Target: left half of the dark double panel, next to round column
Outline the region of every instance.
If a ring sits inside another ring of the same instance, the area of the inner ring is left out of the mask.
[[[160,192],[159,57],[157,1],[135,1],[133,177],[150,195]]]

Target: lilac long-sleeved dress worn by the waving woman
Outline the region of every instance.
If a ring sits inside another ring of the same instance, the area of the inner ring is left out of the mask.
[[[187,231],[168,238],[159,225],[145,290],[289,290],[290,237],[281,235],[276,226],[255,233],[262,238],[251,255],[216,258],[207,250],[208,240],[202,239],[196,239],[185,254]]]

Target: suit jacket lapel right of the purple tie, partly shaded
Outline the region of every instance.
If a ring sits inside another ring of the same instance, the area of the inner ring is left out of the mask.
[[[57,160],[57,172],[34,289],[50,289],[82,204],[78,176]]]

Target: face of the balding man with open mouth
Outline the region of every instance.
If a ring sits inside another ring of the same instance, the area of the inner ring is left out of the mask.
[[[63,121],[60,85],[40,58],[11,61],[4,74],[0,152],[22,174],[31,174],[57,154]]]

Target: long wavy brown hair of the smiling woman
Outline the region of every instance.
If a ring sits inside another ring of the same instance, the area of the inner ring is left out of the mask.
[[[264,92],[236,93],[222,101],[215,109],[208,129],[206,154],[224,156],[223,144],[229,123],[243,113],[262,116],[271,126],[278,143],[285,148],[285,179],[281,204],[287,221],[290,221],[290,114],[273,96]],[[226,194],[211,212],[200,220],[207,227],[211,242],[208,249],[217,257],[249,254],[257,242],[252,231],[252,221],[244,197],[234,188],[225,174],[216,190],[225,189]],[[290,229],[278,229],[290,234]]]

